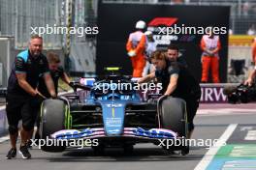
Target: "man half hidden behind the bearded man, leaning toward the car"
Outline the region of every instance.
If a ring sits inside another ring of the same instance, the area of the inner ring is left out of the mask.
[[[65,82],[66,84],[68,84],[70,87],[73,87],[73,84],[70,81],[69,76],[63,70],[63,68],[60,66],[59,56],[54,52],[48,52],[47,58],[48,58],[48,69],[49,69],[51,78],[52,78],[53,83],[54,83],[56,94],[58,94],[58,80],[59,80],[59,78],[61,78],[62,81]],[[45,79],[44,79],[43,76],[41,76],[40,79],[39,79],[39,84],[38,84],[37,89],[44,97],[50,98],[50,94],[48,93],[48,87],[45,83]],[[36,134],[35,134],[35,139],[40,139],[39,127],[40,127],[40,116],[38,114],[37,131],[36,131]],[[31,142],[28,143],[29,146],[30,146],[30,144],[31,144]]]

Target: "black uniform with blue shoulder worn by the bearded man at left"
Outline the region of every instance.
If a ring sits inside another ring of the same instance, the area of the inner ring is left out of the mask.
[[[30,130],[34,127],[40,100],[33,98],[19,85],[16,73],[26,73],[26,81],[36,89],[39,77],[48,72],[48,60],[41,54],[37,58],[31,56],[29,50],[17,54],[14,67],[8,80],[6,113],[11,134],[17,132],[18,121],[22,127]]]

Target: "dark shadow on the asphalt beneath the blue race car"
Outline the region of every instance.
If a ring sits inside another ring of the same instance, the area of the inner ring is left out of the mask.
[[[197,150],[192,148],[191,151]],[[187,156],[170,155],[161,149],[135,149],[133,154],[125,155],[122,149],[106,150],[104,155],[95,156],[93,150],[84,149],[76,151],[66,151],[61,157],[47,158],[51,162],[109,162],[109,161],[182,161],[182,160],[201,160],[204,155],[190,154]]]

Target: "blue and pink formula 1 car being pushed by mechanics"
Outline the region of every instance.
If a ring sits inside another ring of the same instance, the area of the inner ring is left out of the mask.
[[[106,147],[122,147],[124,152],[131,153],[135,144],[148,142],[162,143],[165,150],[188,154],[187,145],[169,145],[170,141],[186,139],[185,101],[171,97],[155,98],[155,95],[142,101],[134,88],[116,88],[118,85],[134,87],[135,84],[131,77],[118,73],[98,79],[81,78],[80,82],[74,83],[75,95],[43,102],[41,138],[96,139],[97,145],[91,147],[98,154]],[[87,95],[81,95],[84,93]],[[67,147],[70,145],[43,146],[42,150],[62,152]]]

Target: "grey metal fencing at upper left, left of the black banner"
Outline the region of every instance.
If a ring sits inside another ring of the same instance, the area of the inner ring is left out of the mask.
[[[0,0],[0,37],[15,37],[16,49],[22,50],[27,48],[31,34],[36,33],[33,30],[39,33],[40,27],[85,28],[96,25],[96,9],[95,0]],[[60,33],[41,36],[46,50],[59,50],[63,54],[69,44],[70,60],[67,61],[71,70],[82,71],[85,67],[86,71],[95,71],[95,36]]]

